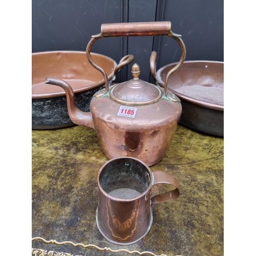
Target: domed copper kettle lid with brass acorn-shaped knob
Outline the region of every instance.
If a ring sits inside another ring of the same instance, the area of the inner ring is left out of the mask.
[[[110,97],[126,105],[147,105],[162,98],[163,92],[154,84],[139,79],[140,67],[132,67],[133,79],[117,84],[110,90]]]

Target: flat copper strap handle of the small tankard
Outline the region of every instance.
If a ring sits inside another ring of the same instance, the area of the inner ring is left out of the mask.
[[[177,199],[180,196],[179,181],[171,174],[157,170],[153,173],[153,186],[158,183],[166,183],[176,187],[176,189],[154,196],[151,198],[151,205]]]

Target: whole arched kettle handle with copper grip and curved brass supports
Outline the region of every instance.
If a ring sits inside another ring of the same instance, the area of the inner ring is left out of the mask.
[[[91,63],[91,65],[100,71],[104,77],[105,81],[105,91],[104,94],[109,91],[109,79],[106,72],[96,65],[96,63],[92,60],[91,57],[91,49],[92,45],[96,40],[101,37],[118,37],[118,36],[156,36],[156,35],[168,35],[169,37],[173,37],[180,46],[181,49],[181,58],[177,65],[170,70],[165,79],[164,92],[165,96],[167,96],[167,85],[170,75],[172,75],[185,60],[186,56],[186,48],[183,40],[181,39],[181,35],[175,34],[170,30],[171,23],[170,22],[134,22],[134,23],[111,23],[111,24],[102,24],[101,25],[101,33],[97,35],[92,35],[91,40],[89,41],[86,48],[86,55]]]

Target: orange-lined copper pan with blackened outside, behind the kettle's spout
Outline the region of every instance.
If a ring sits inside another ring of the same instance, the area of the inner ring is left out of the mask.
[[[103,67],[110,85],[120,69],[134,59],[124,56],[119,64],[110,57],[91,53]],[[32,129],[56,129],[75,125],[69,118],[66,93],[45,83],[48,76],[65,79],[74,90],[77,107],[89,111],[92,96],[104,87],[102,74],[89,63],[86,52],[51,51],[32,53]]]

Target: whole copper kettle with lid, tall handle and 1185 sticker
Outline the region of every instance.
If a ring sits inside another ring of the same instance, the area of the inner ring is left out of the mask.
[[[139,65],[132,67],[133,79],[109,86],[106,72],[91,57],[94,42],[101,37],[168,35],[178,41],[181,58],[165,79],[165,87],[139,79]],[[170,22],[102,24],[101,33],[93,35],[86,49],[91,65],[99,70],[105,89],[94,94],[88,113],[80,111],[71,86],[63,80],[47,78],[49,84],[63,88],[67,95],[70,119],[78,125],[95,129],[105,156],[134,157],[148,166],[159,162],[174,138],[181,117],[180,99],[167,90],[169,77],[184,62],[186,50],[181,35],[170,30]]]

